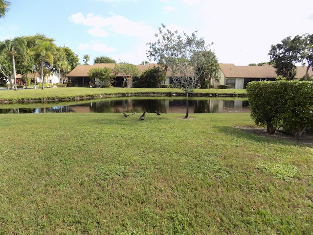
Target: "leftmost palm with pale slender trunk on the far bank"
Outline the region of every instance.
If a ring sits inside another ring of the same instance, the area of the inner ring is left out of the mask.
[[[26,41],[21,37],[14,38],[13,40],[5,40],[4,44],[1,44],[0,46],[0,51],[4,51],[11,60],[14,87],[12,87],[11,82],[10,85],[11,89],[17,90],[15,58],[17,56],[23,57],[26,55]]]

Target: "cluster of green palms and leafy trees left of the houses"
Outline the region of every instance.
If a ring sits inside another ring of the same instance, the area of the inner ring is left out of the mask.
[[[66,74],[79,65],[79,58],[69,47],[57,47],[54,39],[45,35],[16,37],[0,42],[0,84],[10,83],[17,90],[16,75],[22,75],[27,86],[36,72],[40,74],[42,89],[51,72],[63,83]],[[30,77],[31,76],[31,77]]]

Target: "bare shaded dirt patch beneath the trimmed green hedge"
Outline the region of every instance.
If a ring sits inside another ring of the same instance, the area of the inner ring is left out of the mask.
[[[268,136],[271,138],[275,138],[278,140],[285,140],[285,141],[293,141],[297,143],[304,143],[304,144],[313,144],[313,135],[312,134],[304,134],[303,138],[298,140],[294,139],[292,135],[289,135],[282,130],[276,130],[274,135],[269,135],[266,132],[265,128],[261,127],[251,127],[251,126],[235,126],[235,128],[244,130],[248,133],[252,133],[258,136]]]

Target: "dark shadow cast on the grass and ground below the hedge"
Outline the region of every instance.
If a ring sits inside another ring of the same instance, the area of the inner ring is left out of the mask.
[[[305,144],[313,148],[313,136],[307,135],[302,140],[296,140],[291,135],[276,131],[274,135],[268,135],[265,128],[251,126],[215,126],[214,129],[221,133],[234,137],[245,138],[249,141],[264,143],[280,143],[285,145]]]

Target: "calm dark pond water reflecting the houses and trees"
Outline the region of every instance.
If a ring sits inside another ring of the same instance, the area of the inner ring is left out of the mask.
[[[122,97],[88,101],[0,105],[1,114],[23,113],[186,113],[185,97]],[[189,113],[250,113],[245,98],[191,97]]]

